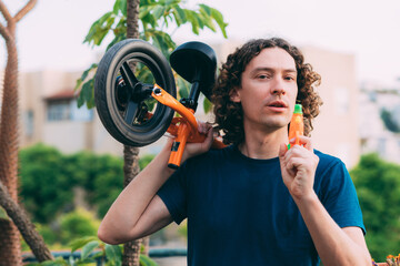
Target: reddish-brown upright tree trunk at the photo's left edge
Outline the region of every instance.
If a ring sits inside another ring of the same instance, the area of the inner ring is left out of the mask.
[[[7,65],[0,124],[0,181],[13,201],[18,202],[18,55],[14,42],[16,24],[9,23],[12,39],[6,42]],[[0,265],[21,265],[20,234],[11,221],[0,219]]]

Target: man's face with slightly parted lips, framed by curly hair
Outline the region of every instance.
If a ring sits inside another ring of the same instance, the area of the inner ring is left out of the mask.
[[[241,102],[244,129],[273,131],[289,124],[297,93],[294,59],[281,48],[267,48],[246,66],[231,100]]]

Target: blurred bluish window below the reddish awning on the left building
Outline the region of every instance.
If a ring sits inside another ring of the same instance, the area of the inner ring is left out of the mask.
[[[48,101],[48,121],[91,121],[93,110],[78,109],[74,99]]]

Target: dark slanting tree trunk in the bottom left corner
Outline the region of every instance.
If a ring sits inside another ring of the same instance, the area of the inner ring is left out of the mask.
[[[43,238],[34,229],[24,211],[11,198],[7,187],[0,182],[0,206],[2,206],[8,216],[17,225],[23,239],[27,242],[38,262],[53,259],[49,248],[47,248]],[[10,265],[10,264],[8,264]]]

